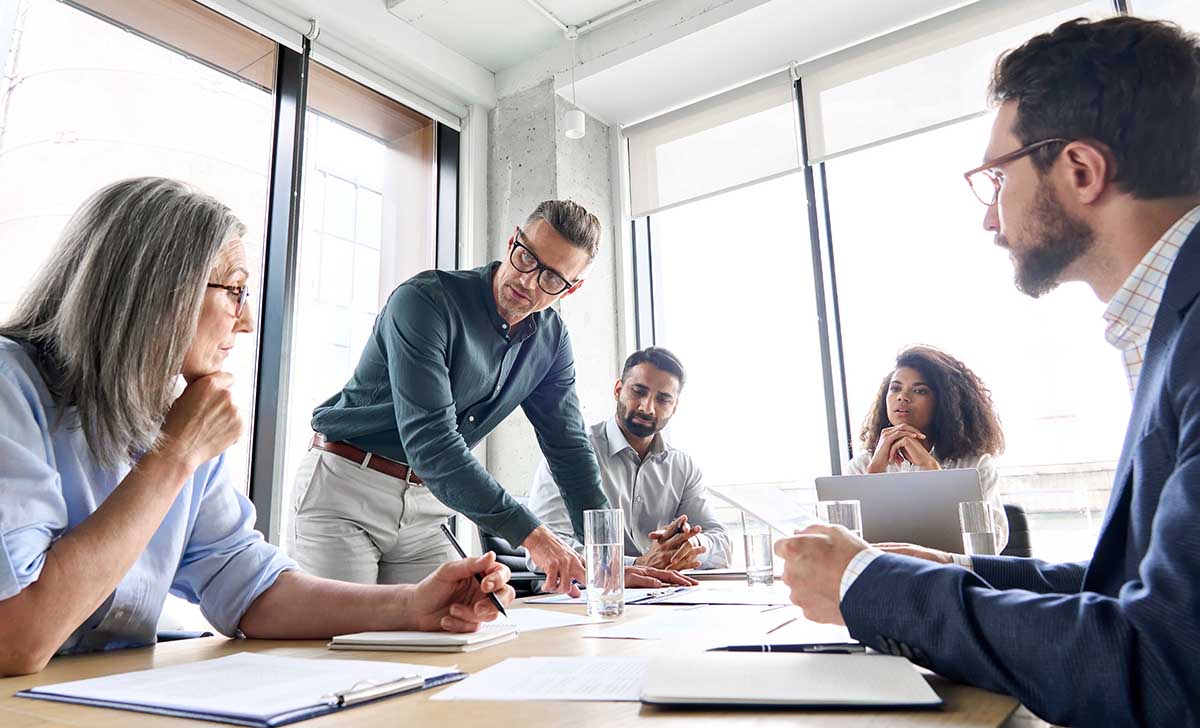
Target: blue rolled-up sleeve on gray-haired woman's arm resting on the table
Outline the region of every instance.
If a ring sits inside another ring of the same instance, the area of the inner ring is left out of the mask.
[[[254,506],[229,482],[224,456],[194,477],[204,487],[170,590],[198,602],[217,631],[234,636],[254,600],[296,565],[254,530]]]

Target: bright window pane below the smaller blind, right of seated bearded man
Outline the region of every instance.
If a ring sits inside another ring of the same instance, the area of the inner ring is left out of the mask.
[[[811,499],[829,473],[804,198],[791,174],[649,219],[654,343],[688,371],[667,435],[708,487],[772,483]]]

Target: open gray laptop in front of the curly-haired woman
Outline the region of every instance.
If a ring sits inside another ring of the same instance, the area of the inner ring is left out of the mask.
[[[901,541],[962,553],[959,504],[983,500],[979,471],[913,470],[817,479],[821,500],[857,500],[863,537],[871,543]]]

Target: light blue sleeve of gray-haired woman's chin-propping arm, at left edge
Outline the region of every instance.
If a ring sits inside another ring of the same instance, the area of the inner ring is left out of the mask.
[[[0,365],[0,600],[37,580],[67,525],[47,432],[32,381]]]

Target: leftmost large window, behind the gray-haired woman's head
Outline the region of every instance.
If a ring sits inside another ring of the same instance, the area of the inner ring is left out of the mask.
[[[275,43],[187,0],[144,0],[128,18],[134,4],[91,5],[136,32],[55,0],[17,0],[7,16],[12,26],[0,41],[8,49],[0,88],[0,318],[74,209],[128,176],[176,178],[229,205],[246,224],[251,267],[262,270]],[[154,40],[139,35],[151,30]],[[253,336],[240,337],[226,365],[247,420],[256,344]],[[247,433],[228,455],[242,491],[248,453]]]

